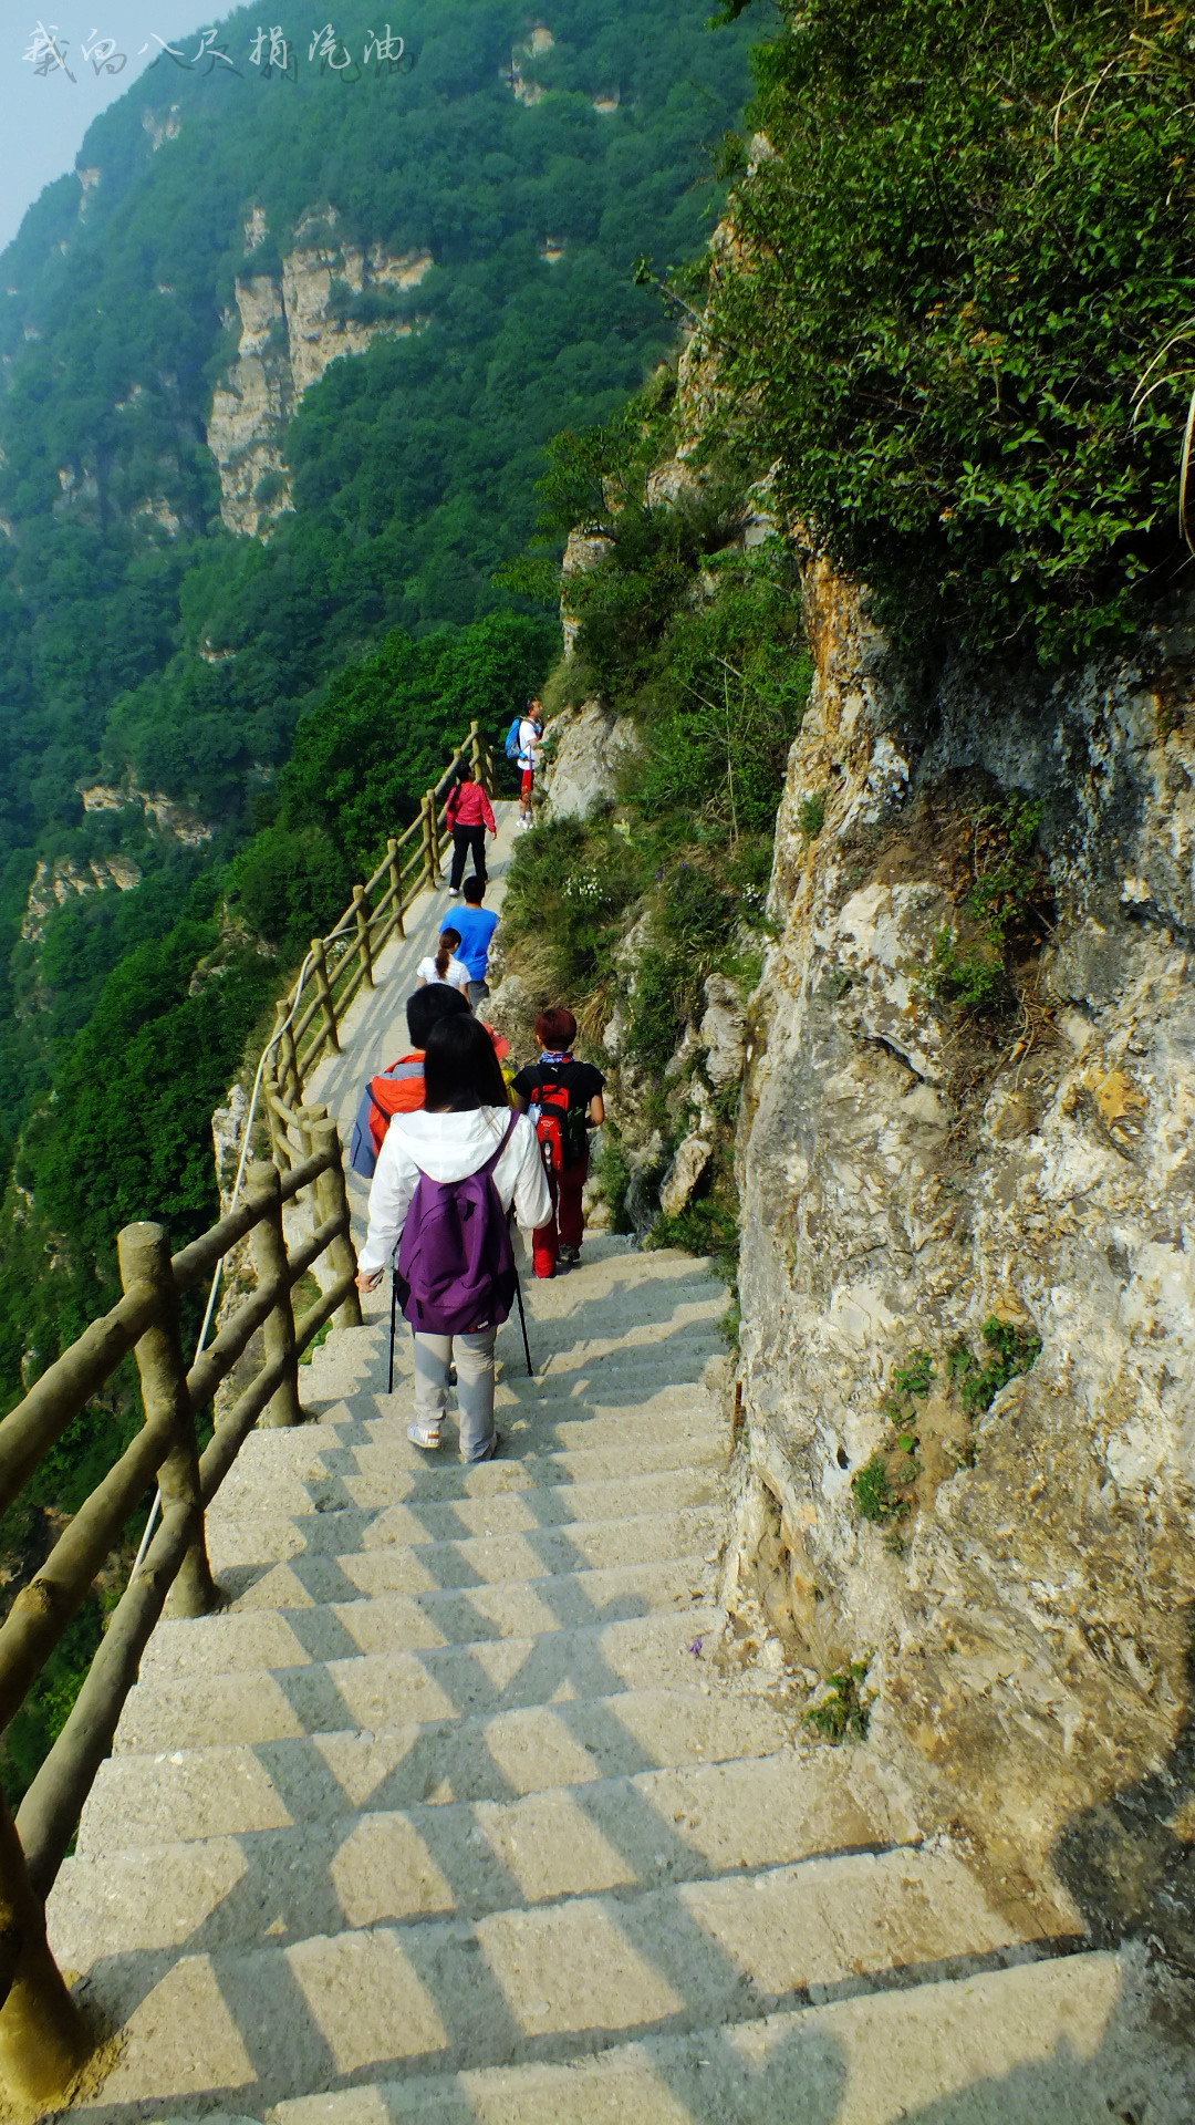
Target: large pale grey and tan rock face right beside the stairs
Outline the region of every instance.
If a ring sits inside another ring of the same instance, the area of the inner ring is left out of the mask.
[[[797,1658],[870,1660],[878,1745],[997,1868],[1053,1857],[1191,1957],[1195,629],[1057,682],[910,674],[817,557],[806,604],[738,1143],[731,1581]],[[1014,790],[1053,910],[993,1016],[931,969]]]

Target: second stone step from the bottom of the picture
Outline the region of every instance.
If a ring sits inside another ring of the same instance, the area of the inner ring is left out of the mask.
[[[200,1942],[196,1944],[202,1946]],[[238,2110],[387,2078],[606,2051],[617,2034],[731,2025],[919,1970],[1016,1955],[1016,1934],[948,1851],[810,1859],[476,1923],[423,1919],[249,1951],[111,1953],[87,2000],[123,2048],[104,2110],[179,2087]]]

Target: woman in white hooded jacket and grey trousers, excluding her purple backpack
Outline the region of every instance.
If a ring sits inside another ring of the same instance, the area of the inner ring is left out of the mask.
[[[461,1182],[476,1173],[510,1128],[510,1099],[493,1041],[476,1018],[442,1018],[427,1037],[423,1056],[427,1105],[419,1114],[395,1114],[389,1124],[370,1188],[370,1230],[357,1258],[364,1292],[381,1284],[393,1258],[406,1211],[425,1173],[434,1182]],[[523,1230],[551,1222],[553,1198],[540,1158],[536,1130],[519,1116],[502,1158],[493,1169],[502,1209],[515,1205]],[[415,1334],[415,1422],[406,1436],[432,1451],[440,1445],[440,1424],[449,1407],[449,1366],[457,1366],[461,1413],[461,1460],[489,1460],[498,1451],[493,1430],[493,1345],[498,1328],[476,1334]]]

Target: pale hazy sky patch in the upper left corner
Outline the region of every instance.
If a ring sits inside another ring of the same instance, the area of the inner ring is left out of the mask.
[[[74,168],[91,119],[149,66],[159,49],[153,36],[183,49],[189,36],[193,51],[196,32],[225,13],[228,4],[213,8],[211,0],[206,6],[202,0],[51,0],[45,8],[38,0],[0,0],[0,251],[38,191]],[[276,8],[266,19],[276,19]],[[38,28],[66,47],[74,81],[57,66],[38,74],[26,62]],[[115,38],[117,53],[125,53],[119,74],[96,74],[94,60],[83,55],[96,38]],[[140,53],[147,42],[149,51]]]

